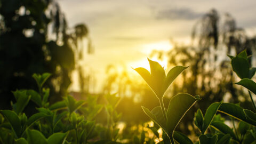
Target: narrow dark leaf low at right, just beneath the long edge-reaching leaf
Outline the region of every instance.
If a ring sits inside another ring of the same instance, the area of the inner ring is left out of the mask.
[[[225,123],[222,123],[222,122],[212,122],[211,125],[214,127],[214,129],[217,129],[218,131],[220,131],[220,132],[222,132],[224,134],[230,134],[230,136],[233,139],[237,139],[235,133],[233,132],[233,130],[230,127],[228,127]]]

